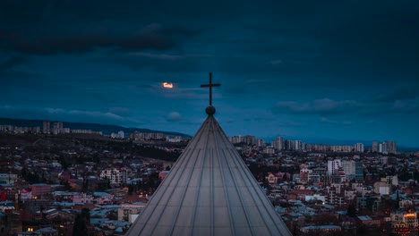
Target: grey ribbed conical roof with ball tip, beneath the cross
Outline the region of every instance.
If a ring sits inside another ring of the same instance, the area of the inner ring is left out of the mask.
[[[126,235],[291,235],[214,113]]]

